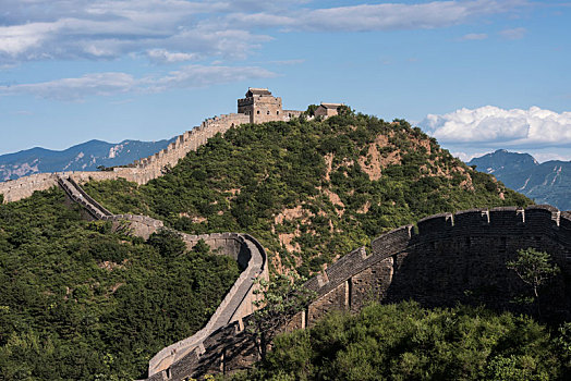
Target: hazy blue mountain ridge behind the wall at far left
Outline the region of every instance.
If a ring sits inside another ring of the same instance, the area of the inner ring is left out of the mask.
[[[160,151],[173,139],[123,140],[119,144],[89,140],[62,151],[36,147],[15,153],[1,155],[0,182],[33,173],[96,171],[99,165],[125,165]]]

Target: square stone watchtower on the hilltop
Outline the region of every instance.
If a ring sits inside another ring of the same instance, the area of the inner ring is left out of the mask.
[[[238,100],[238,113],[250,115],[250,123],[283,120],[281,98],[267,88],[248,87],[245,98]]]

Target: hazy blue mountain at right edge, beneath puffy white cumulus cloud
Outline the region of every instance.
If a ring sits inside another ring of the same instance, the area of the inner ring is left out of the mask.
[[[571,210],[571,161],[538,163],[529,153],[499,149],[474,158],[467,164],[494,174],[508,187],[533,198],[537,204]]]

